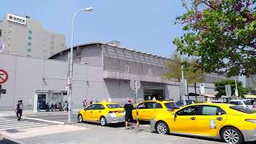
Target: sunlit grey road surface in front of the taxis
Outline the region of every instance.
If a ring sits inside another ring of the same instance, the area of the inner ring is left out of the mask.
[[[27,118],[39,118],[46,121],[66,122],[67,114],[49,113],[49,114],[30,114],[26,115]],[[10,118],[10,117],[9,117]],[[113,144],[113,143],[181,143],[181,144],[218,144],[222,143],[218,140],[207,138],[187,137],[182,135],[161,135],[152,133],[149,123],[143,122],[139,127],[126,130],[124,124],[99,126],[96,123],[82,122],[77,123],[77,114],[72,114],[72,122],[70,125],[59,125],[57,123],[49,124],[46,131],[40,132],[42,128],[32,128],[35,133],[30,136],[24,136],[21,134],[14,134],[20,142],[27,144],[32,143],[94,143],[94,144]],[[27,119],[26,121],[29,121]],[[34,122],[34,121],[33,121]],[[42,121],[40,121],[42,122]],[[44,123],[44,122],[42,122]],[[48,122],[45,122],[48,123]],[[55,126],[55,127],[54,127]],[[62,126],[62,129],[57,129],[56,126]],[[135,126],[135,125],[134,125]],[[55,132],[55,131],[56,132]],[[60,130],[60,131],[58,131]],[[29,133],[29,131],[27,132]],[[41,134],[45,133],[45,134]],[[49,134],[47,134],[49,133]],[[26,134],[26,130],[23,130],[23,134]]]

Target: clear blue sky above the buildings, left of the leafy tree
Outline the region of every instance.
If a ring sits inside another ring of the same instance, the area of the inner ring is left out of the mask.
[[[182,0],[1,0],[0,17],[7,13],[29,15],[47,30],[66,35],[70,46],[71,18],[79,9],[94,7],[76,19],[74,44],[110,42],[170,57],[172,39],[182,34],[174,19],[184,12]]]

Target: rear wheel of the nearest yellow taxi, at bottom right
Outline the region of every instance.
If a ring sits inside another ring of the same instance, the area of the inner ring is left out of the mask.
[[[244,140],[241,132],[234,127],[226,127],[221,133],[222,141],[231,144],[241,144]]]

